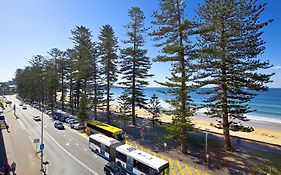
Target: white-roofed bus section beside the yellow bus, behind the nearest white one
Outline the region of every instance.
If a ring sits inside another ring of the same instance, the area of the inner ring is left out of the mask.
[[[115,160],[116,147],[122,144],[122,142],[103,134],[92,134],[89,138],[89,148],[108,161]]]

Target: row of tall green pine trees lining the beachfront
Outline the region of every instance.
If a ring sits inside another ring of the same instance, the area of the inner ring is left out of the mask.
[[[225,150],[232,150],[230,129],[240,127],[239,121],[247,121],[244,114],[253,111],[247,102],[256,91],[267,90],[266,83],[273,75],[258,71],[271,67],[268,61],[258,59],[265,50],[262,29],[273,21],[260,21],[266,4],[257,0],[205,0],[192,20],[186,17],[183,0],[159,0],[159,6],[152,15],[152,29],[145,25],[140,8],[129,10],[123,48],[110,25],[102,26],[98,41],[92,41],[89,28],[75,27],[71,31],[72,49],[55,48],[48,56],[36,55],[30,66],[17,70],[18,94],[28,101],[44,100],[54,108],[59,91],[61,109],[65,110],[68,93],[67,107],[72,113],[78,111],[82,121],[89,105],[95,116],[104,105],[110,123],[111,88],[120,75],[124,91],[119,100],[130,109],[135,125],[135,108],[147,108],[143,89],[153,76],[149,74],[152,58],[144,48],[149,36],[161,50],[153,61],[171,64],[170,77],[157,83],[168,87],[165,93],[174,97],[167,101],[172,109],[166,112],[173,115],[168,130],[180,141],[181,151],[186,153],[187,132],[194,127],[190,117],[198,107],[206,107],[206,116],[219,119],[216,127],[223,129]],[[200,88],[206,86],[209,88]],[[193,91],[207,94],[202,106],[193,103]]]

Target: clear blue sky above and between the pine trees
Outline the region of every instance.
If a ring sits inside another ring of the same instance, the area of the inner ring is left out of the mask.
[[[199,2],[188,0],[186,16],[193,18]],[[259,2],[266,2],[260,0]],[[274,19],[263,29],[262,39],[266,41],[265,53],[259,58],[269,60],[273,67],[263,73],[272,73],[273,82],[269,87],[281,88],[281,1],[268,0],[261,21]],[[28,66],[33,55],[48,55],[52,48],[72,48],[71,30],[77,25],[88,27],[93,40],[97,41],[100,28],[110,24],[115,30],[120,46],[126,38],[124,25],[128,23],[128,9],[140,7],[150,27],[151,14],[157,10],[158,0],[0,0],[0,82],[9,81],[18,68]],[[147,38],[145,48],[153,58],[158,49]],[[154,80],[164,81],[169,76],[169,63],[153,63],[149,79],[150,86],[159,86]]]

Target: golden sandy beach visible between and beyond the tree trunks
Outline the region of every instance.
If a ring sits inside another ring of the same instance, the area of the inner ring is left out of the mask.
[[[119,113],[119,108],[116,104],[112,106],[112,110],[114,112]],[[151,114],[145,109],[137,109],[136,114],[138,117],[151,118]],[[172,116],[162,114],[160,120],[162,122],[171,122]],[[202,110],[197,112],[197,114],[192,117],[192,122],[195,124],[196,128],[202,130],[208,129],[210,132],[222,134],[221,129],[217,129],[213,126],[210,126],[211,123],[213,124],[216,123],[216,119],[204,117]],[[232,136],[238,136],[246,139],[251,139],[251,140],[256,140],[260,142],[271,143],[281,146],[281,124],[250,120],[248,122],[244,122],[244,125],[253,127],[254,131],[253,132],[230,131],[230,134]]]

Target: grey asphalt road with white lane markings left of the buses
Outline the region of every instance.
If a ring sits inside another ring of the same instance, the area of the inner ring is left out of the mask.
[[[11,100],[13,104],[16,104],[16,114],[19,117],[19,122],[28,131],[30,141],[33,143],[33,139],[41,138],[41,121],[34,121],[32,116],[35,114],[41,116],[42,113],[31,106],[27,106],[27,110],[23,110],[19,106],[20,101],[15,96],[8,96],[7,99]],[[104,174],[103,167],[106,161],[90,151],[88,141],[79,132],[70,129],[66,125],[65,130],[58,130],[54,128],[54,122],[48,115],[43,114],[43,116],[44,161],[49,162],[47,174]]]

